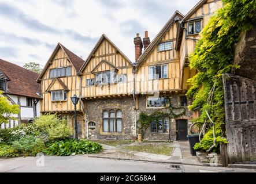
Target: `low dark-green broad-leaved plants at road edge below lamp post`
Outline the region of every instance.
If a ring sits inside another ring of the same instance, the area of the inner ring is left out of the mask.
[[[102,146],[88,140],[61,140],[51,143],[46,150],[47,155],[69,156],[92,154],[102,150]]]

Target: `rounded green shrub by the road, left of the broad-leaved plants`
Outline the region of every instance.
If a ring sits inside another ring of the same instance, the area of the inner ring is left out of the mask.
[[[35,137],[29,136],[14,141],[12,147],[19,154],[24,156],[36,156],[36,154],[45,150],[46,145],[42,139],[35,139]]]

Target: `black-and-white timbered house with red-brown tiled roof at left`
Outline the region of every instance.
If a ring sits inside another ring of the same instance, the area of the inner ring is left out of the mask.
[[[39,74],[16,64],[0,59],[0,90],[11,104],[20,105],[20,113],[2,124],[1,128],[13,128],[20,124],[28,124],[40,116],[40,83],[36,82]]]

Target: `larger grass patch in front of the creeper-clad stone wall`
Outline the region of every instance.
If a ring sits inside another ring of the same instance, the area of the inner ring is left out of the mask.
[[[173,150],[172,147],[169,147],[167,145],[153,145],[153,144],[129,145],[127,147],[124,147],[124,149],[139,151],[139,152],[147,152],[150,154],[168,155],[168,156],[172,156],[172,150]]]

